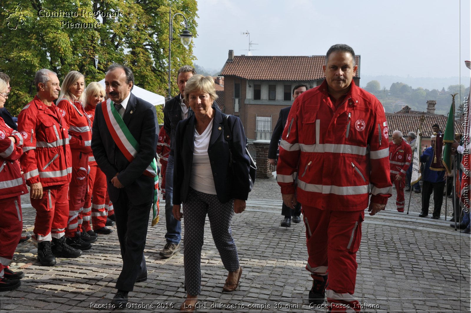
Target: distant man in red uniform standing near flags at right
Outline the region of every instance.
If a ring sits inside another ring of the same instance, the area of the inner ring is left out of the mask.
[[[398,196],[396,206],[398,212],[404,212],[404,187],[406,186],[406,172],[411,164],[412,150],[402,132],[394,131],[392,141],[389,143],[390,179],[394,182]]]

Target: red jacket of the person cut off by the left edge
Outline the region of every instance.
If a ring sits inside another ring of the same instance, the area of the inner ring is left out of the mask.
[[[8,137],[15,138],[15,143]],[[21,146],[23,137],[0,117],[0,199],[28,193],[18,162],[23,153]]]

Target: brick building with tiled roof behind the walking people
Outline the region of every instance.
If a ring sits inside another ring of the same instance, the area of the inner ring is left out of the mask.
[[[354,81],[359,85],[360,56]],[[324,80],[322,56],[235,56],[229,50],[224,76],[224,113],[239,116],[249,141],[270,140],[280,109],[292,105],[292,89]],[[219,100],[218,100],[219,102]]]

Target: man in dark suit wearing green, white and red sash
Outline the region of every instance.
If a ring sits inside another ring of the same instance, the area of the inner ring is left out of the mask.
[[[123,266],[112,304],[122,306],[128,302],[128,292],[133,290],[134,283],[147,279],[144,247],[154,199],[154,179],[144,172],[155,157],[157,116],[153,105],[131,93],[134,75],[130,68],[112,64],[106,72],[105,85],[111,102],[97,105],[91,148],[98,166],[106,174],[108,194],[116,215]],[[107,125],[110,115],[104,108],[111,106],[122,117],[119,121],[119,116],[114,115],[116,121],[123,122],[138,143],[131,161],[119,144],[126,136],[116,137],[116,128],[110,129]]]

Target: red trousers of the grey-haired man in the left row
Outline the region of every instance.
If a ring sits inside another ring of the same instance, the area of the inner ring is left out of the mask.
[[[69,213],[69,184],[45,187],[42,191],[41,199],[31,199],[31,205],[36,209],[33,230],[36,242],[64,236]]]

